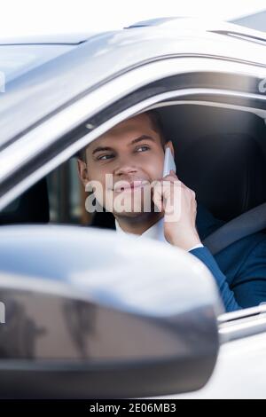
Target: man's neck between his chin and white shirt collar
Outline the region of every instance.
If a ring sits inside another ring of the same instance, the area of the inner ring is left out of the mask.
[[[121,230],[127,233],[142,234],[163,216],[161,212],[141,213],[139,216],[115,216]]]

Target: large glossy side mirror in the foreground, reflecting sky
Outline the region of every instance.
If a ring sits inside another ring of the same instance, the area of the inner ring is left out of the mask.
[[[0,277],[2,398],[161,396],[213,372],[223,309],[210,272],[181,249],[4,226]]]

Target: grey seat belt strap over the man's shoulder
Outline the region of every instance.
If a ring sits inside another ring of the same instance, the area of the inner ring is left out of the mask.
[[[242,238],[260,232],[266,228],[266,203],[250,209],[242,215],[233,218],[230,222],[223,224],[215,232],[209,234],[202,241],[209,251],[215,255],[224,248],[227,248]]]

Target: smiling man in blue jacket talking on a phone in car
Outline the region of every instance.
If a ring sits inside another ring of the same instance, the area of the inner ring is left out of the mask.
[[[166,146],[174,155],[158,114],[137,114],[87,146],[78,159],[79,176],[84,186],[90,181],[102,185],[106,193],[94,189],[94,196],[113,213],[117,232],[164,240],[206,264],[226,311],[266,301],[266,236],[256,233],[212,256],[201,240],[221,222],[202,206],[197,210],[195,193],[173,170],[161,178]],[[151,197],[148,209],[147,196]],[[167,221],[173,209],[176,216]]]

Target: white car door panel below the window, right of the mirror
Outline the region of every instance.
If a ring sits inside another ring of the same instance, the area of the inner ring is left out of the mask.
[[[265,311],[262,305],[221,316],[222,346],[207,385],[194,393],[163,398],[265,398]]]

